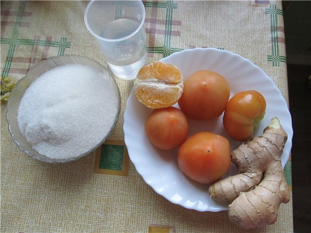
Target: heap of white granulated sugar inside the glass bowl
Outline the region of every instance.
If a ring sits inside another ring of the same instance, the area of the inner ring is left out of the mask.
[[[108,77],[74,64],[45,72],[27,88],[17,122],[36,151],[66,159],[98,145],[117,112],[117,93]]]

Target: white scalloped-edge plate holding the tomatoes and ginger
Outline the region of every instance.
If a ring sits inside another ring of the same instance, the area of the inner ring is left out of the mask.
[[[242,90],[259,91],[266,99],[267,108],[255,136],[260,135],[271,118],[277,116],[288,133],[288,140],[281,156],[282,165],[285,166],[292,148],[292,118],[281,92],[259,67],[240,55],[216,49],[183,50],[173,53],[162,61],[178,67],[184,80],[200,69],[212,70],[223,75],[231,88],[230,97]],[[178,104],[174,106],[178,107]],[[185,208],[211,212],[227,210],[227,206],[209,197],[207,185],[191,181],[179,170],[176,161],[177,149],[158,150],[150,144],[144,133],[144,123],[151,112],[151,109],[136,99],[132,91],[124,113],[124,138],[130,159],[144,181],[156,193]],[[210,131],[229,139],[223,128],[222,119],[223,115],[207,122],[189,120],[189,136],[200,131]],[[231,139],[229,141],[231,150],[240,145]],[[237,169],[232,165],[227,176],[236,173]]]

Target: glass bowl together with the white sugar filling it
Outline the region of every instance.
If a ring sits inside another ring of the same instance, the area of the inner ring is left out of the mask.
[[[102,145],[120,110],[120,90],[107,69],[88,57],[62,55],[37,63],[17,82],[6,119],[20,150],[67,163]]]

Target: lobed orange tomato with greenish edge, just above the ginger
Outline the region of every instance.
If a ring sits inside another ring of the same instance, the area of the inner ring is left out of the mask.
[[[235,94],[225,107],[225,132],[234,140],[249,140],[256,132],[266,110],[266,100],[254,90]]]

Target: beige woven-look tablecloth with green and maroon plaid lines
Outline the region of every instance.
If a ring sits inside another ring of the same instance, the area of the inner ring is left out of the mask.
[[[108,67],[84,23],[87,1],[1,1],[1,75],[18,81],[37,62],[78,54]],[[229,50],[262,68],[288,101],[281,1],[144,1],[149,62],[192,48]],[[109,140],[68,164],[21,152],[1,103],[1,232],[203,233],[243,231],[227,211],[175,205],[146,184],[124,146],[123,115],[133,81],[116,78],[121,114]],[[109,156],[110,155],[110,156]],[[113,155],[113,156],[111,156]],[[292,195],[291,157],[285,166]],[[251,232],[293,232],[292,200],[274,225]]]

